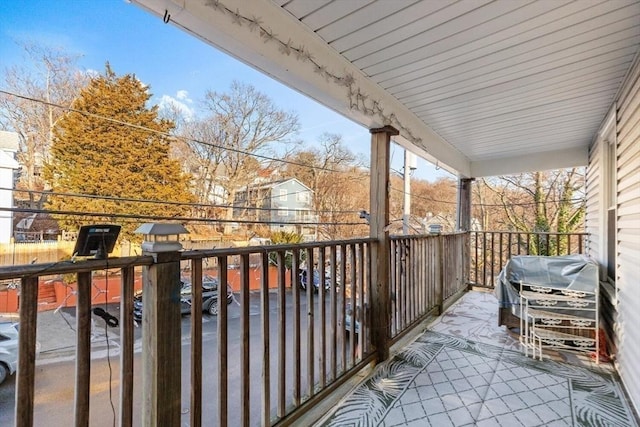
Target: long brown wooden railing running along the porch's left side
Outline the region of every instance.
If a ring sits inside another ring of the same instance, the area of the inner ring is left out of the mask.
[[[122,426],[295,422],[376,361],[371,319],[381,314],[372,312],[374,244],[357,239],[0,268],[0,280],[20,281],[15,424],[103,425],[111,424],[105,421],[111,417]],[[394,237],[390,244],[391,306],[385,312],[391,313],[387,335],[393,341],[465,289],[467,234]],[[114,338],[119,373],[109,380],[110,400],[95,394],[92,381],[92,367],[99,372],[105,366],[92,359],[92,275],[105,270],[117,277],[112,282],[119,282],[122,295]],[[318,277],[317,292],[313,280],[301,289],[302,270],[308,278]],[[39,411],[34,397],[37,292],[43,276],[72,273],[77,278],[75,375],[60,381],[71,383],[74,398],[57,402],[59,408],[69,406],[58,411],[66,417],[58,420]],[[136,338],[134,277],[140,274],[144,316],[142,337]],[[239,276],[233,282],[237,304],[227,305],[227,288],[218,287],[216,316],[203,315],[201,285],[211,275],[219,283]],[[179,315],[181,279],[193,285],[189,324]],[[250,291],[256,280],[257,290]],[[188,354],[181,355],[181,349]],[[112,396],[119,396],[117,402]]]

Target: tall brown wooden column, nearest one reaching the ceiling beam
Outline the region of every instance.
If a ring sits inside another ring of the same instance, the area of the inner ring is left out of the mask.
[[[389,299],[389,145],[398,135],[391,126],[371,129],[371,342],[378,361],[389,357],[391,304]]]

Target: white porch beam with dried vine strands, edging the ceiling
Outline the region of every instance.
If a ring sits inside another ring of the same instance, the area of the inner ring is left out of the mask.
[[[469,176],[470,162],[395,97],[269,0],[133,0],[183,30],[366,127],[393,126],[394,141]]]

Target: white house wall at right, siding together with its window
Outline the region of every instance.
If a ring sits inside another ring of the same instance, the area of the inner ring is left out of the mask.
[[[616,365],[636,410],[640,409],[640,61],[627,78],[616,102]],[[602,225],[607,210],[602,188],[603,139],[591,149],[587,180],[587,231],[597,233],[590,255],[602,253]],[[596,209],[595,206],[602,208]]]

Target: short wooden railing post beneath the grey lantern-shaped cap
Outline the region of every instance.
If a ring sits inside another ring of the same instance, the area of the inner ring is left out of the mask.
[[[142,275],[142,425],[180,426],[180,253],[149,253]]]

